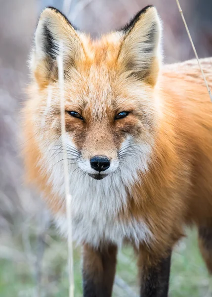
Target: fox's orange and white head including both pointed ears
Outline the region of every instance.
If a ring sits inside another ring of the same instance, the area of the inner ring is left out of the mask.
[[[82,173],[90,182],[114,176],[132,181],[147,169],[158,123],[160,35],[153,6],[95,41],[55,8],[43,10],[30,60],[28,112],[49,170],[57,170],[53,164],[62,159],[63,150],[57,65],[61,43],[70,174]]]

